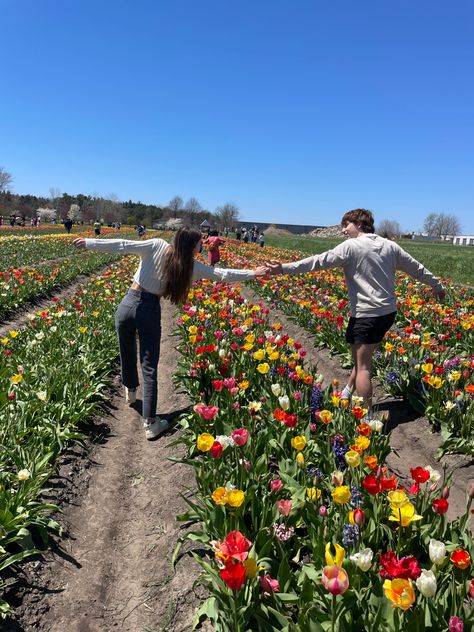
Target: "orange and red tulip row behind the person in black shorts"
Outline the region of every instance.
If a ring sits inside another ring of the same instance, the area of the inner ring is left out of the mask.
[[[242,248],[229,244],[226,263],[243,264]],[[247,257],[261,253],[247,249]],[[269,258],[294,259],[295,253],[268,253]],[[271,277],[257,291],[305,327],[319,346],[350,362],[344,340],[348,319],[347,290],[342,272],[331,270],[297,276]],[[440,431],[446,451],[474,454],[474,290],[449,288],[444,304],[431,298],[430,288],[400,275],[397,322],[375,355],[375,371],[384,389],[402,395]]]

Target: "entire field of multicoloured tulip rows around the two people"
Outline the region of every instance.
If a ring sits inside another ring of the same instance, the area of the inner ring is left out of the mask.
[[[3,328],[0,340],[0,590],[60,531],[44,490],[61,450],[85,441],[84,423],[106,397],[117,359],[113,313],[136,266],[131,257],[77,256],[71,239],[0,238],[1,313],[28,306],[25,324]],[[232,240],[222,254],[239,268],[302,256]],[[35,309],[32,301],[79,275],[88,277],[75,292]],[[383,421],[366,419],[361,401],[342,399],[341,386],[323,384],[306,362],[305,345],[348,359],[342,276],[271,277],[252,289],[261,300],[249,303],[238,285],[195,283],[177,313],[174,379],[192,405],[176,441],[196,483],[183,488],[187,511],[177,519],[189,528],[173,562],[200,547],[208,596],[194,627],[472,630],[474,488],[448,522],[449,471],[406,463],[398,480],[386,465]],[[442,452],[473,455],[474,292],[450,287],[439,305],[401,276],[398,301],[377,377],[429,419]],[[307,330],[304,344],[270,305]],[[0,614],[8,610],[0,601]]]

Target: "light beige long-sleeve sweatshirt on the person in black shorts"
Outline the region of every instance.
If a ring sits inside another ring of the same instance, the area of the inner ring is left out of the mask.
[[[439,279],[398,244],[373,233],[347,239],[320,255],[284,263],[284,274],[342,268],[349,293],[351,316],[384,316],[396,311],[395,272],[442,290]]]

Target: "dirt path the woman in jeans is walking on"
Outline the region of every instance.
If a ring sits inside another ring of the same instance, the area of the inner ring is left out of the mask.
[[[170,376],[176,366],[170,337],[174,309],[163,302],[159,413],[173,419],[188,401],[176,392]],[[117,380],[118,384],[118,380]],[[140,397],[140,392],[139,392]],[[145,440],[139,416],[125,404],[117,387],[111,401],[103,445],[91,455],[88,480],[79,504],[64,509],[66,537],[29,565],[33,587],[11,630],[107,632],[109,630],[179,632],[189,629],[198,598],[192,585],[198,569],[190,556],[176,573],[170,563],[182,533],[176,515],[185,510],[179,494],[193,484],[191,468],[168,460],[177,448],[173,426],[157,441]]]

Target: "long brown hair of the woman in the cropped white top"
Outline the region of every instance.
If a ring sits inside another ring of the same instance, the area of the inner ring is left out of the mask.
[[[166,258],[166,283],[163,296],[172,303],[183,303],[188,296],[194,266],[194,249],[202,238],[197,228],[183,226],[175,235]]]

